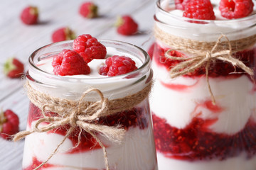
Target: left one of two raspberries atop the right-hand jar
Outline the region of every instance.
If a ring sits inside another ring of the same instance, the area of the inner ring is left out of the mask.
[[[185,6],[183,17],[215,20],[213,5],[210,4],[210,0],[191,0]]]

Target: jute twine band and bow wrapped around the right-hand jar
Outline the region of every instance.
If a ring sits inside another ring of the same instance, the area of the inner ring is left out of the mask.
[[[240,69],[244,70],[253,79],[253,70],[240,60],[236,59],[233,54],[255,45],[256,34],[247,38],[231,41],[228,40],[227,36],[220,35],[215,42],[203,42],[171,35],[164,32],[164,30],[161,30],[158,26],[154,26],[154,36],[157,40],[161,40],[161,42],[164,42],[171,47],[171,49],[165,52],[165,57],[171,60],[182,61],[170,69],[169,73],[171,78],[194,72],[201,67],[206,68],[206,81],[214,105],[215,97],[213,96],[208,79],[208,70],[211,62],[215,62],[216,60],[229,62],[230,64],[233,64],[234,67],[240,67]],[[225,39],[224,41],[222,41],[223,38]],[[169,55],[169,52],[173,50],[181,50],[182,52],[190,54],[191,57],[174,57]]]

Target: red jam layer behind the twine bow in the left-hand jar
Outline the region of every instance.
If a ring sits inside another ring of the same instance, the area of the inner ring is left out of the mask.
[[[57,116],[56,113],[50,112],[46,113],[46,115]],[[121,127],[124,128],[124,130],[128,130],[131,127],[139,127],[139,129],[143,130],[144,128],[148,128],[149,126],[149,116],[150,115],[147,114],[147,112],[144,111],[142,108],[132,108],[129,111],[122,111],[119,113],[115,113],[114,115],[108,115],[99,118],[99,120],[95,120],[94,123],[107,126],[121,125]],[[42,118],[41,110],[37,106],[33,105],[33,103],[30,103],[28,113],[28,125],[31,126],[31,123],[35,120],[38,120],[39,118]],[[69,125],[65,125],[58,129],[51,130],[48,133],[56,133],[65,136],[68,128]],[[74,147],[78,143],[79,132],[80,129],[78,128],[70,135],[70,137],[68,137],[71,140],[71,142],[73,142]],[[101,148],[100,145],[95,145],[95,143],[96,140],[89,133],[82,131],[80,145],[78,145],[78,147],[70,149],[68,151],[68,154],[86,152],[87,150],[90,149]]]

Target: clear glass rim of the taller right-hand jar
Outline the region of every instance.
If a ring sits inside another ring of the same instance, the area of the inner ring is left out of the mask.
[[[186,17],[183,17],[183,16],[176,16],[173,13],[169,13],[169,12],[165,11],[164,8],[161,7],[161,1],[164,1],[164,0],[157,0],[156,1],[156,8],[158,8],[161,13],[163,13],[164,15],[169,16],[171,18],[176,18],[176,19],[191,22],[191,23],[196,22],[196,21],[198,21],[198,22],[203,21],[203,23],[216,23],[216,24],[226,23],[226,24],[230,24],[230,23],[240,23],[240,22],[244,22],[244,21],[250,21],[252,19],[255,19],[255,17],[256,17],[256,13],[253,13],[252,15],[246,16],[244,18],[236,18],[236,19],[231,19],[231,20],[201,20],[201,19],[186,18]],[[156,15],[154,16],[154,19],[156,21],[159,21],[156,18]],[[159,22],[163,23],[162,21],[159,21]],[[255,25],[255,24],[256,24],[256,20],[255,20],[255,23],[252,23],[252,26]]]

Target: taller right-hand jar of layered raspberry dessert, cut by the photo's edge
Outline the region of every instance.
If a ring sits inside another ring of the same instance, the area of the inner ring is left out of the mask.
[[[255,13],[252,1],[157,1],[159,169],[256,169]]]

